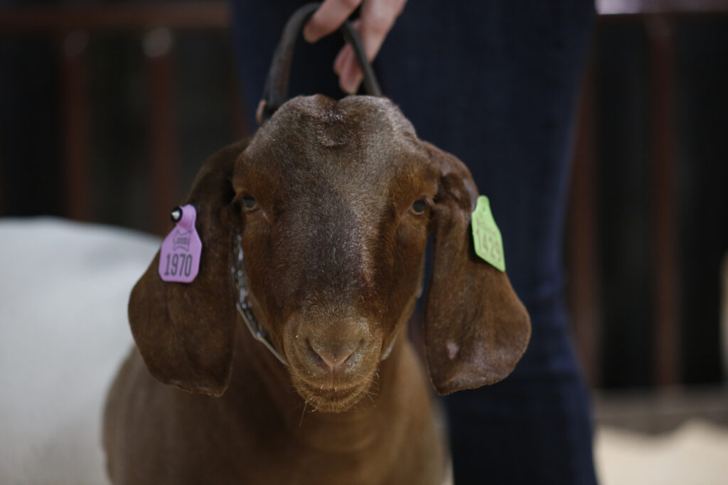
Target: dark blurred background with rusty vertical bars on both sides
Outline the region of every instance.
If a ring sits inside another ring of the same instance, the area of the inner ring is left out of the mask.
[[[728,1],[597,8],[564,251],[596,418],[728,425]],[[0,216],[162,234],[255,129],[233,48],[224,1],[0,0]]]

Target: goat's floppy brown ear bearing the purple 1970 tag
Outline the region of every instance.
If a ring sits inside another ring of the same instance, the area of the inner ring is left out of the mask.
[[[186,204],[197,211],[202,240],[199,273],[191,283],[166,283],[159,252],[129,299],[129,323],[146,368],[182,390],[222,395],[232,371],[237,310],[230,274],[231,230],[236,218],[232,169],[247,141],[218,151],[195,178]]]

